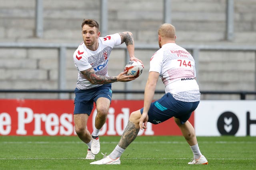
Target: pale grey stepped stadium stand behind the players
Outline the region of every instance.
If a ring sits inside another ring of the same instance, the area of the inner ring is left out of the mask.
[[[144,90],[149,59],[158,48],[156,30],[165,21],[176,26],[177,44],[194,55],[201,90],[256,90],[255,0],[0,0],[0,4],[2,90],[73,90],[77,70],[72,54],[82,41],[84,18],[98,20],[100,27],[106,25],[102,36],[121,31],[134,34],[135,55],[145,65],[143,75],[133,82],[113,84],[113,91]],[[107,10],[107,18],[102,9]],[[112,52],[109,75],[124,68],[125,56],[123,47]],[[157,90],[162,89],[159,80]],[[55,99],[60,95],[2,92],[0,98]],[[142,99],[143,95],[113,96],[124,98]],[[205,94],[202,99],[239,99],[239,95]]]

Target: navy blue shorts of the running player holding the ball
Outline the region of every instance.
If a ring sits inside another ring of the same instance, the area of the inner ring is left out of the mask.
[[[86,113],[91,114],[93,102],[96,103],[98,98],[108,98],[111,102],[112,90],[111,84],[103,84],[96,88],[79,90],[75,89],[74,114]]]

